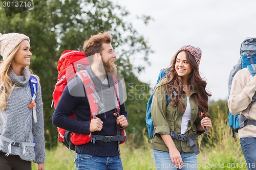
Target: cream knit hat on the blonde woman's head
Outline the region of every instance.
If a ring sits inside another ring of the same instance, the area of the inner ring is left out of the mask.
[[[30,42],[29,37],[24,34],[8,33],[2,35],[0,33],[0,55],[3,57],[3,60],[5,61],[14,48],[25,39]]]

